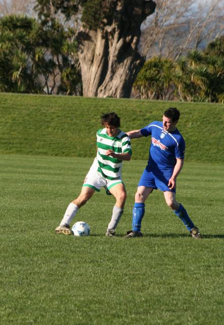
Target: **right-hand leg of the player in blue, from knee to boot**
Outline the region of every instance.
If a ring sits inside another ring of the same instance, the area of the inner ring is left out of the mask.
[[[190,232],[191,237],[195,239],[201,239],[202,236],[200,234],[199,229],[194,225],[193,221],[188,216],[186,210],[182,206],[182,204],[178,203],[176,200],[176,193],[165,191],[164,197],[168,207],[170,207],[173,212],[180,218],[180,220],[184,223],[187,230]]]

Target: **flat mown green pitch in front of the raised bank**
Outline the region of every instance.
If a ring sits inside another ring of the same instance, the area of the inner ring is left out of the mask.
[[[86,238],[56,235],[91,159],[0,155],[1,324],[223,322],[223,165],[186,163],[177,199],[203,240],[189,237],[154,191],[143,238],[125,240],[145,161],[123,167],[128,198],[117,238],[105,237],[114,200],[104,191],[79,211]]]

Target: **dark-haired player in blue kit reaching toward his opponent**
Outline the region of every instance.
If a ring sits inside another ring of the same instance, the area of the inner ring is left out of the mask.
[[[145,127],[127,132],[130,139],[151,136],[149,160],[135,194],[132,230],[126,238],[142,237],[141,223],[145,213],[145,201],[153,189],[160,189],[168,207],[182,220],[191,237],[201,239],[199,229],[194,225],[182,204],[176,200],[176,179],[183,167],[185,142],[176,125],[180,112],[169,108],[163,121],[154,121]]]

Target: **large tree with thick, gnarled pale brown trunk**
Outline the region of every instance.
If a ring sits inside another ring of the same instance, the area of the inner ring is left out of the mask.
[[[155,10],[151,0],[38,0],[43,24],[55,13],[69,20],[82,13],[77,33],[84,96],[130,97],[144,57],[138,52],[141,24]],[[100,10],[99,10],[100,8]]]

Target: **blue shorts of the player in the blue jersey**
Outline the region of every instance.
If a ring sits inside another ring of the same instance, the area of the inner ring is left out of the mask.
[[[176,193],[176,188],[170,189],[168,187],[169,179],[173,171],[147,171],[147,168],[142,173],[138,186],[152,187],[162,191],[170,191]]]

